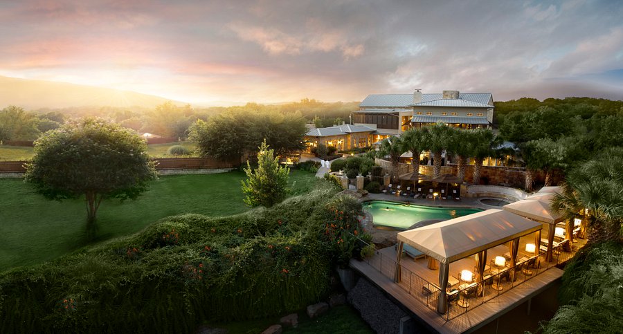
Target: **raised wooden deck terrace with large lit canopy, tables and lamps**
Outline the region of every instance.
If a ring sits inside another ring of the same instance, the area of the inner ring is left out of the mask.
[[[435,331],[469,331],[561,277],[555,267],[573,252],[554,241],[548,261],[539,247],[543,226],[507,210],[487,210],[400,232],[396,246],[350,265]]]

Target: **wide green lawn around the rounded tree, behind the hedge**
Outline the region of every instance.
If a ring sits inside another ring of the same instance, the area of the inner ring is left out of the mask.
[[[240,181],[244,173],[161,176],[136,201],[103,201],[98,241],[132,234],[165,216],[184,213],[227,216],[249,210]],[[296,182],[295,182],[296,181]],[[294,194],[307,192],[314,174],[291,171]],[[21,179],[0,178],[0,272],[55,259],[87,245],[84,199],[47,201]]]

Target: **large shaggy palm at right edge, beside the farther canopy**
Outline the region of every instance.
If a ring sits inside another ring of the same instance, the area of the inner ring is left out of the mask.
[[[552,207],[567,216],[588,212],[589,241],[620,240],[623,235],[623,150],[611,149],[567,176]],[[577,210],[579,209],[579,210]]]

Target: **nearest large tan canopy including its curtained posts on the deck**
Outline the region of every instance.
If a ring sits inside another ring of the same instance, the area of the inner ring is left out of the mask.
[[[478,281],[482,282],[488,249],[510,241],[512,268],[516,263],[519,238],[540,232],[541,228],[543,228],[541,223],[505,210],[491,209],[399,232],[395,281],[401,281],[400,255],[404,243],[437,259],[440,262],[440,295],[437,301],[437,312],[445,313],[448,307],[446,288],[451,262],[477,254]],[[539,234],[536,238],[540,238]]]

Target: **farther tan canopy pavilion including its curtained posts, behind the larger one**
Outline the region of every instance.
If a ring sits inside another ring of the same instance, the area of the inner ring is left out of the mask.
[[[527,219],[532,219],[533,221],[539,221],[541,223],[549,224],[547,259],[548,261],[551,261],[552,245],[554,243],[554,232],[556,230],[556,224],[564,221],[564,217],[561,214],[554,212],[550,205],[552,197],[554,197],[557,193],[557,191],[552,188],[559,189],[559,187],[544,188],[548,189],[545,189],[545,191],[543,192],[539,191],[536,194],[528,196],[524,200],[504,205],[503,208],[508,212],[518,214]],[[537,243],[537,245],[539,245],[539,243]]]

